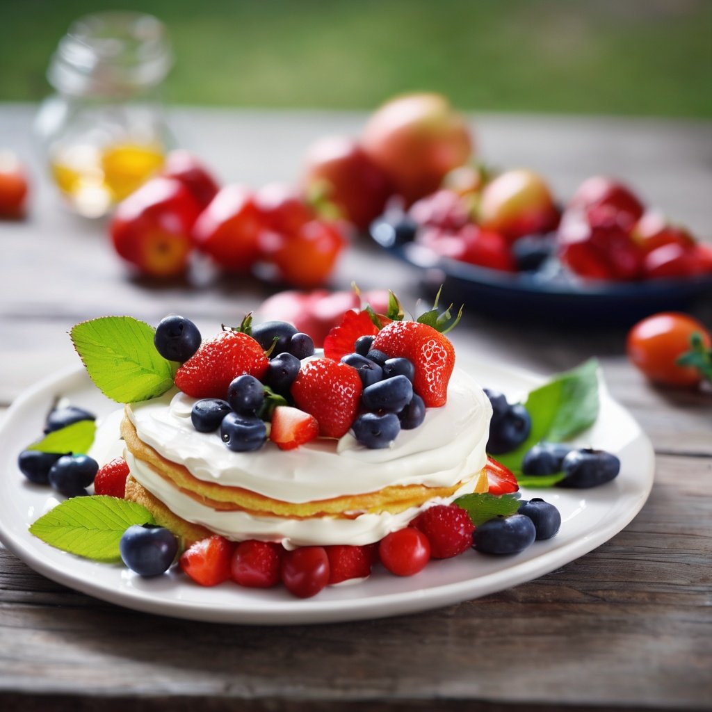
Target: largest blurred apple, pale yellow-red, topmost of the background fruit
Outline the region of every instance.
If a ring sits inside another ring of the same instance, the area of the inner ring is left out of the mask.
[[[431,93],[382,105],[365,126],[362,146],[408,204],[436,190],[473,150],[464,117],[444,96]]]

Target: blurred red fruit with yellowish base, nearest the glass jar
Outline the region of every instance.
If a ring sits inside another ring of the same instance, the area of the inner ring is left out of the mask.
[[[187,267],[200,207],[172,178],[154,178],[118,204],[109,229],[119,255],[144,274],[169,277]]]

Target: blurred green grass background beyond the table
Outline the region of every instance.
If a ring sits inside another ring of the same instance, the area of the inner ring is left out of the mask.
[[[708,0],[0,0],[0,100],[45,96],[70,21],[119,8],[167,23],[174,103],[712,117]]]

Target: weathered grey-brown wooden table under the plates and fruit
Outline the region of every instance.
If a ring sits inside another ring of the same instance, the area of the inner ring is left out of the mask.
[[[0,407],[75,362],[78,320],[169,310],[208,330],[269,293],[250,280],[153,286],[127,277],[103,225],[64,211],[31,139],[34,108],[0,107],[0,145],[28,159],[30,216],[0,224]],[[356,133],[364,115],[179,110],[174,126],[226,182],[293,179],[308,143]],[[712,236],[712,127],[692,122],[473,117],[488,162],[525,165],[567,196],[614,174]],[[390,286],[414,305],[417,278],[353,248],[335,286]],[[712,324],[712,305],[698,315]],[[614,397],[656,450],[635,520],[592,553],[480,600],[423,614],[310,627],[238,627],[155,617],[57,585],[0,547],[4,710],[693,709],[712,700],[712,397],[655,389],[629,366],[624,329],[562,333],[468,310],[459,347],[543,374],[597,355]],[[9,457],[4,453],[3,457]]]

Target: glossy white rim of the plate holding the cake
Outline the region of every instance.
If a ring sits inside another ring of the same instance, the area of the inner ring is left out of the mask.
[[[545,376],[520,367],[502,365],[491,359],[476,357],[472,354],[463,353],[462,360],[466,364],[478,362],[486,364],[503,375],[509,374],[520,380],[525,379],[531,384],[540,382],[545,378]],[[6,429],[9,428],[8,424],[12,422],[17,413],[23,411],[24,407],[28,407],[34,399],[42,397],[49,389],[54,390],[59,384],[73,379],[78,379],[79,381],[88,379],[88,375],[82,365],[67,367],[55,372],[25,389],[14,400],[5,417],[0,421],[0,441],[4,439]],[[466,580],[421,587],[413,591],[394,591],[385,594],[353,597],[352,599],[324,600],[320,599],[320,597],[314,597],[306,600],[292,598],[286,601],[267,600],[266,603],[263,602],[258,608],[247,607],[241,610],[239,607],[235,607],[227,612],[226,617],[226,611],[221,607],[215,607],[211,602],[182,602],[176,598],[157,598],[155,593],[152,597],[151,592],[146,592],[145,590],[132,590],[129,595],[125,590],[120,588],[112,589],[100,580],[85,579],[73,572],[71,567],[58,567],[49,557],[50,555],[43,555],[43,547],[50,548],[49,545],[41,543],[42,546],[37,548],[28,545],[26,541],[23,541],[23,537],[15,535],[2,518],[0,518],[0,541],[4,543],[11,553],[33,570],[61,585],[122,607],[180,619],[226,622],[229,624],[318,624],[413,614],[466,600],[474,600],[494,592],[507,590],[523,582],[535,580],[555,570],[557,567],[589,553],[624,529],[644,506],[654,482],[654,451],[652,444],[627,409],[618,404],[608,394],[607,390],[604,392],[607,402],[626,414],[637,429],[632,444],[642,448],[646,456],[646,461],[641,467],[641,471],[645,471],[644,478],[640,483],[640,487],[635,490],[635,497],[632,503],[629,503],[623,513],[617,513],[614,519],[606,520],[604,525],[594,532],[588,532],[585,536],[577,536],[570,542],[544,551],[529,559],[513,562],[503,570],[496,570],[483,575],[473,575],[473,577],[469,577]],[[14,449],[11,452],[14,455]],[[7,478],[6,481],[9,482],[10,478]],[[11,492],[11,486],[8,486]],[[2,488],[3,486],[0,484],[0,490]],[[524,488],[523,492],[526,492]],[[560,492],[557,493],[560,494]],[[619,500],[612,503],[612,511],[615,511],[617,503],[619,503]],[[25,538],[30,540],[31,544],[33,543],[30,539],[31,535],[28,533],[26,533]],[[50,549],[53,552],[57,551],[53,548]],[[68,560],[78,560],[77,557],[73,557],[70,554],[63,554],[66,557],[70,557]],[[81,564],[85,563],[85,560],[78,561]],[[510,561],[513,561],[513,559],[510,559]],[[102,567],[107,566],[99,562],[90,563]]]

